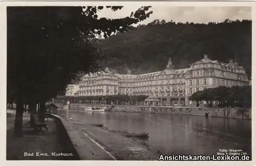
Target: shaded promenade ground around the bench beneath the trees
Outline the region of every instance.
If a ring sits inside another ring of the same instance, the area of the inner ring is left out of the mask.
[[[65,147],[59,143],[59,135],[56,131],[55,120],[49,118],[48,131],[35,134],[28,123],[30,115],[24,113],[23,116],[23,137],[17,138],[13,136],[13,127],[15,122],[15,111],[7,110],[11,114],[7,118],[7,160],[73,160],[72,157],[56,156],[58,153],[65,153]],[[33,156],[25,156],[25,153],[33,154]],[[55,152],[55,153],[54,153]],[[36,155],[39,154],[39,156]],[[54,153],[54,154],[52,154]]]

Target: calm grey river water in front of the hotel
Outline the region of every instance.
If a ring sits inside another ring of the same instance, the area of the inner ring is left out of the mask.
[[[102,123],[110,130],[149,133],[146,144],[164,155],[217,155],[220,149],[242,150],[251,156],[251,121],[222,117],[130,112],[58,110],[82,123]]]

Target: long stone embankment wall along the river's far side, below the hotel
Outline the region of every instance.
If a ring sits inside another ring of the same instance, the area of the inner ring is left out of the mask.
[[[59,108],[63,106],[56,104]],[[63,105],[63,104],[62,104]],[[69,109],[82,110],[88,106],[85,104],[69,104]],[[102,105],[98,105],[102,106]],[[110,107],[110,105],[106,105]],[[138,113],[161,113],[161,114],[177,114],[177,115],[198,115],[204,116],[208,113],[211,117],[229,117],[229,118],[242,118],[244,112],[244,119],[251,119],[251,109],[243,108],[199,108],[199,107],[152,107],[152,106],[123,106],[116,105],[112,112],[138,112]]]

